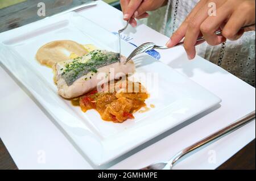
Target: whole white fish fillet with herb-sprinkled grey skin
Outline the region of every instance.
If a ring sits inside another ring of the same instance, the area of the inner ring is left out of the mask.
[[[108,81],[118,78],[116,76],[119,73],[134,73],[133,61],[125,64],[125,57],[122,57],[120,62],[118,60],[118,53],[93,50],[85,56],[57,63],[55,82],[58,93],[67,99],[76,98],[95,89],[98,83],[102,82],[102,78],[97,78],[99,73],[105,73]],[[115,76],[109,76],[111,70],[114,70]]]

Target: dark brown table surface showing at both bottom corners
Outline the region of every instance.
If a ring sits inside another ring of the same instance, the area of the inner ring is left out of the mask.
[[[17,170],[13,159],[0,139],[0,170]],[[240,150],[232,158],[218,167],[218,170],[255,170],[255,140]]]

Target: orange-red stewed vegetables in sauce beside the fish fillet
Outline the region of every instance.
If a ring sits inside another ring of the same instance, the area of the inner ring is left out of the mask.
[[[123,123],[128,119],[134,119],[133,113],[141,110],[142,107],[147,109],[145,100],[149,97],[147,92],[143,91],[144,87],[141,83],[138,83],[139,91],[133,89],[133,92],[128,92],[129,83],[131,82],[126,81],[126,87],[122,88],[122,91],[98,92],[93,90],[79,98],[72,99],[71,102],[73,106],[80,106],[83,112],[96,110],[105,121]],[[132,84],[135,86],[134,82]],[[120,85],[123,85],[123,82]],[[120,85],[119,82],[115,82],[115,86],[120,87]]]

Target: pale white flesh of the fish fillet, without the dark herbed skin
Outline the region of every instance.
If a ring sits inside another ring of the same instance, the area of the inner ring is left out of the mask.
[[[105,51],[106,52],[106,51]],[[113,53],[113,52],[110,52]],[[76,80],[68,85],[67,81],[65,80],[63,76],[63,71],[65,69],[65,65],[71,64],[73,60],[68,60],[65,62],[59,62],[55,65],[55,83],[58,88],[58,94],[61,95],[63,98],[66,99],[71,99],[71,98],[76,98],[80,95],[83,95],[93,89],[95,89],[98,86],[98,83],[102,81],[102,79],[98,79],[97,75],[99,73],[105,73],[109,74],[110,70],[114,69],[114,77],[108,76],[106,79],[106,82],[112,81],[115,78],[119,78],[119,73],[123,74],[129,74],[129,73],[134,73],[135,71],[135,65],[134,62],[131,60],[126,62],[126,58],[121,56],[120,62],[119,60],[119,54],[114,53],[115,56],[117,56],[117,60],[109,61],[108,64],[101,64],[105,66],[101,66],[100,68],[97,69],[97,73],[92,73],[91,71],[89,73],[85,73],[86,71],[83,71],[81,75],[77,75]],[[81,59],[81,62],[84,63],[88,61],[88,58],[83,58]],[[93,74],[93,75],[92,75]],[[105,82],[105,83],[106,83]]]

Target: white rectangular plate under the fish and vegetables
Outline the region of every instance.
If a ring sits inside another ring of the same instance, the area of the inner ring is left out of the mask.
[[[61,128],[61,131],[96,166],[118,158],[159,134],[220,103],[217,96],[177,73],[167,65],[143,54],[134,59],[135,78],[146,82],[150,93],[147,104],[155,108],[135,113],[134,120],[122,124],[103,121],[96,111],[83,113],[79,107],[57,95],[52,70],[35,60],[37,50],[54,40],[73,40],[117,52],[117,36],[90,20],[71,12],[28,24],[13,31],[13,37],[1,42],[0,61],[31,92]],[[128,56],[133,45],[122,41]],[[158,81],[148,85],[152,76]]]

